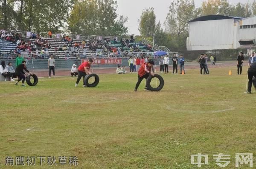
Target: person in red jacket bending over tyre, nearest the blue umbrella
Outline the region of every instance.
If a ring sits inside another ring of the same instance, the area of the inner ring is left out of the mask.
[[[145,78],[147,79],[149,74],[154,76],[154,72],[151,71],[151,68],[154,65],[153,60],[149,60],[147,63],[144,63],[143,65],[140,66],[140,69],[138,70],[138,82],[136,84],[136,87],[134,89],[135,92],[137,92],[138,87],[140,86],[141,81]],[[145,90],[147,89],[147,84],[145,86]]]

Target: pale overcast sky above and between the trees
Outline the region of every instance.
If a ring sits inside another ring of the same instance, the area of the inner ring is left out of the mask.
[[[246,3],[248,0],[228,0],[230,3]],[[171,0],[117,0],[117,14],[122,14],[128,17],[128,23],[125,26],[128,27],[130,34],[138,35],[138,20],[143,8],[154,7],[155,14],[157,16],[157,22],[160,20],[162,26],[166,20],[166,16],[169,12],[169,6]],[[200,7],[203,0],[195,0],[195,5]],[[253,2],[253,0],[249,0]]]

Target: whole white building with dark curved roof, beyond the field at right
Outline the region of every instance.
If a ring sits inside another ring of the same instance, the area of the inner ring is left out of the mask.
[[[187,51],[251,48],[256,44],[256,15],[209,15],[189,21]]]

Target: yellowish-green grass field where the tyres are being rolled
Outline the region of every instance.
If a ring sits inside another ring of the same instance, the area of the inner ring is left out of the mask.
[[[256,153],[256,92],[244,94],[245,72],[235,70],[162,74],[160,92],[144,91],[145,80],[134,92],[135,74],[99,75],[95,88],[71,77],[0,82],[0,169],[195,169],[197,153],[209,158],[201,168],[220,168],[213,155],[223,153],[234,169],[236,153]],[[79,165],[8,167],[7,156],[77,156]]]

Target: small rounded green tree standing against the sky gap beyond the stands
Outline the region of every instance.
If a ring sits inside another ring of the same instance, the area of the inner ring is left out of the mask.
[[[155,34],[157,26],[154,8],[144,8],[138,23],[140,34],[144,37],[152,37]]]

